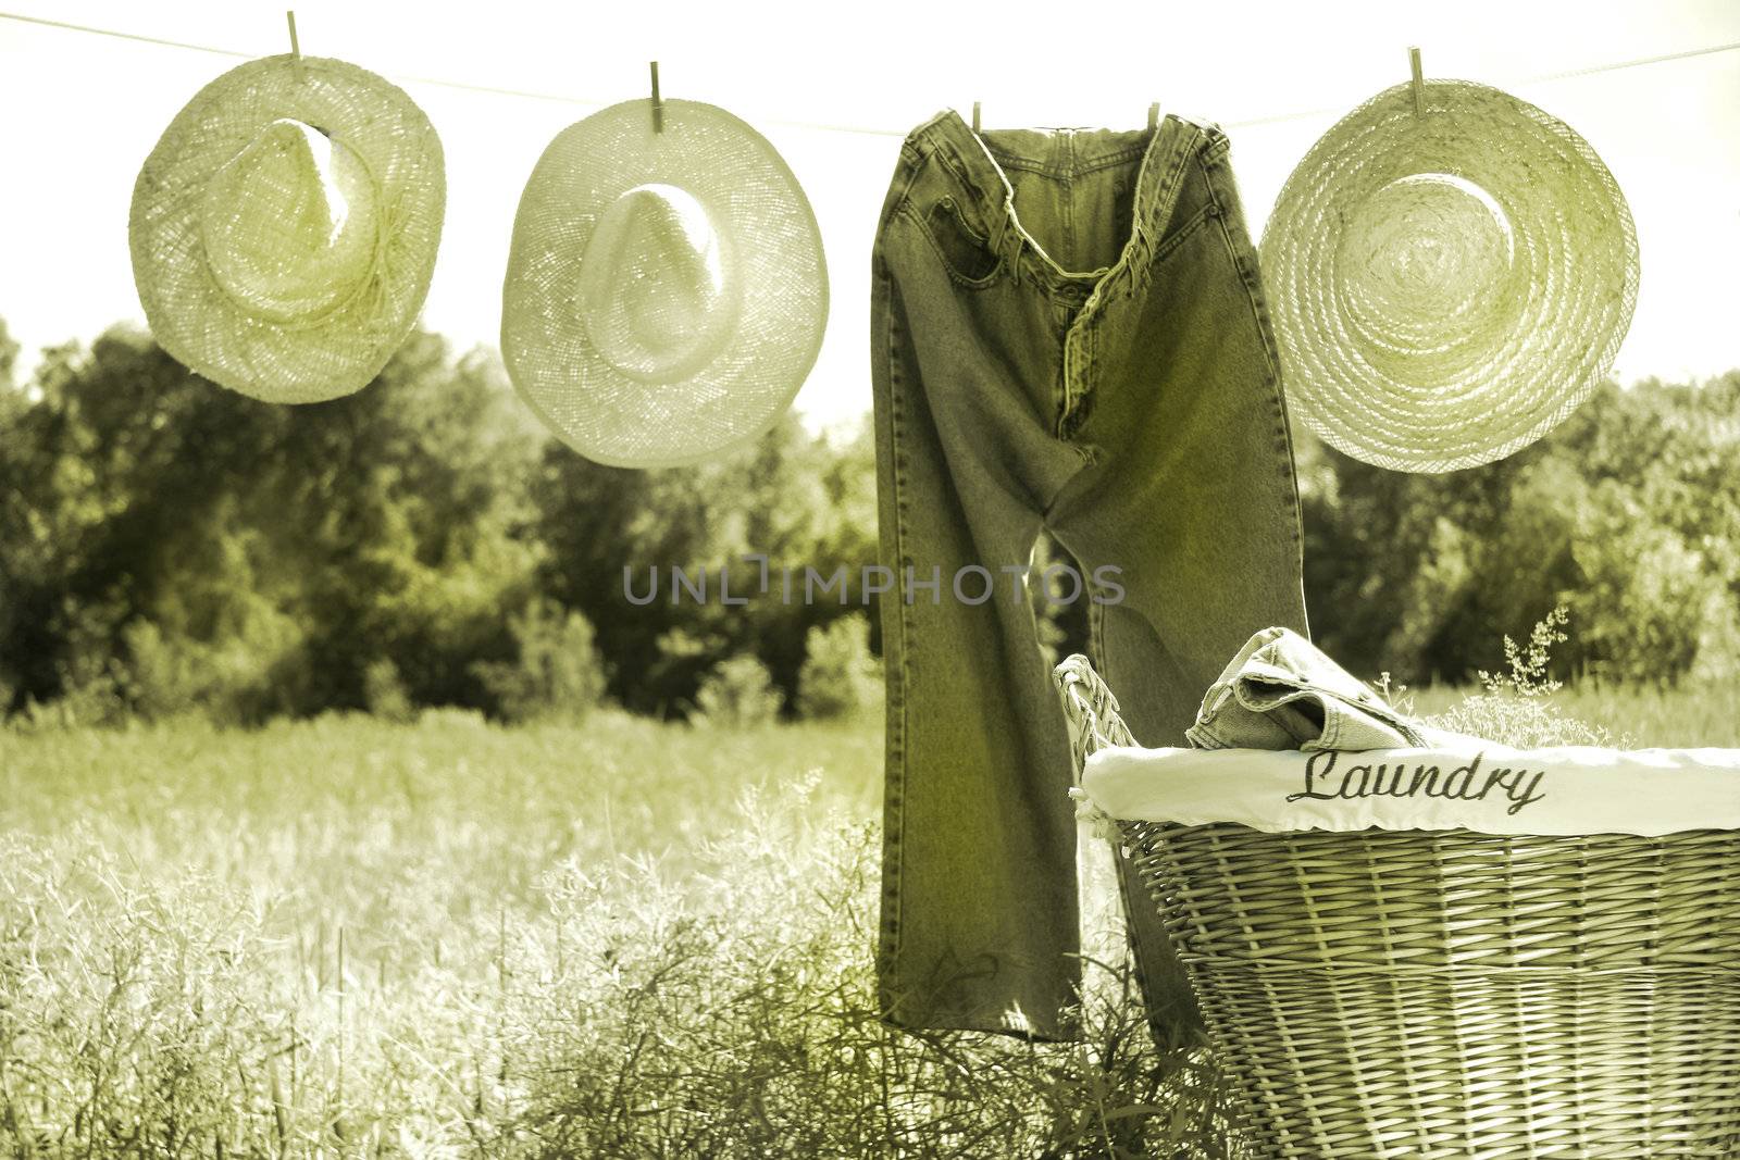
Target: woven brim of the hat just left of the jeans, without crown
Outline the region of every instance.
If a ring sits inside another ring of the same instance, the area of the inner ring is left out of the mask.
[[[586,336],[576,287],[599,217],[625,191],[693,195],[736,254],[740,301],[722,350],[672,383],[642,383]],[[581,456],[623,468],[698,463],[762,435],[821,350],[828,278],[797,177],[750,125],[712,104],[625,101],[564,129],[513,223],[501,353],[515,388]]]

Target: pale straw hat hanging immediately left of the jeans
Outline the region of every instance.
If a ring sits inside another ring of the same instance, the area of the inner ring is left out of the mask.
[[[525,183],[501,304],[515,388],[597,463],[694,463],[753,440],[828,317],[816,217],[741,120],[625,101],[564,129]]]

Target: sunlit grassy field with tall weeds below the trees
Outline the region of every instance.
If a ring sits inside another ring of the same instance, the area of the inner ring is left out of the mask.
[[[0,730],[0,1153],[1230,1155],[1115,986],[1086,1045],[875,1021],[879,786],[872,720]]]

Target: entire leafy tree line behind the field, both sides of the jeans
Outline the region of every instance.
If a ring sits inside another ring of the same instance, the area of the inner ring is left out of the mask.
[[[548,438],[492,355],[426,332],[306,407],[216,388],[127,329],[45,351],[28,383],[16,353],[0,327],[0,713],[517,720],[611,697],[753,717],[873,696],[873,600],[625,595],[625,567],[873,565],[868,421],[786,416],[740,454],[632,471]],[[1312,630],[1354,671],[1463,680],[1557,603],[1580,671],[1740,664],[1740,372],[1604,384],[1540,443],[1442,477],[1298,437]],[[1032,603],[1053,650],[1079,643],[1074,605]]]

